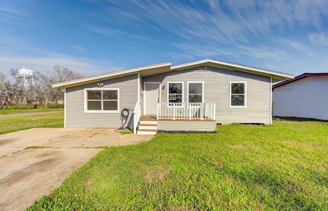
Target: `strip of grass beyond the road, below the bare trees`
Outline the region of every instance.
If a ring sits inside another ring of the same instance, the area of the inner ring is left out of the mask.
[[[0,109],[0,115],[3,113],[25,113],[25,112],[38,112],[38,111],[56,111],[64,110],[64,105],[53,105],[51,108],[46,108],[44,105],[11,105],[8,109]]]

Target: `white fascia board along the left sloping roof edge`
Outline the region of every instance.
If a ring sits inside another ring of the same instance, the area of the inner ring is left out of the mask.
[[[121,76],[137,74],[139,71],[144,71],[144,70],[147,70],[147,69],[153,69],[153,68],[158,68],[158,67],[171,66],[171,64],[172,64],[172,62],[164,62],[164,63],[134,67],[134,68],[130,68],[130,69],[124,69],[122,71],[115,71],[115,72],[111,72],[111,73],[106,73],[106,74],[101,74],[101,75],[96,75],[96,76],[90,76],[90,77],[76,79],[76,80],[72,80],[72,81],[55,83],[55,84],[52,84],[52,87],[53,88],[55,88],[55,87],[63,87],[63,88],[72,87],[72,86],[75,86],[75,85],[86,84],[86,83],[89,83],[89,82],[92,82],[92,81],[105,80],[105,79],[110,79],[110,78],[118,78],[118,77],[121,77]]]

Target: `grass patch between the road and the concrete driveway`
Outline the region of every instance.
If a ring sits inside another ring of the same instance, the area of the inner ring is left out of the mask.
[[[64,113],[17,116],[0,119],[0,134],[30,128],[64,127]]]

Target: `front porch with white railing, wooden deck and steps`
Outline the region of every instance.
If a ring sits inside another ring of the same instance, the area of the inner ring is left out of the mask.
[[[140,113],[138,109],[140,110],[140,108],[135,108],[135,111]],[[140,115],[139,117],[135,111],[133,112],[136,126],[134,134],[151,135],[156,134],[157,130],[216,130],[215,103],[158,103],[157,115]]]

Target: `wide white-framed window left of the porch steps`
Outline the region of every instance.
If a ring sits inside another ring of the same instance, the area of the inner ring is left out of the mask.
[[[85,89],[85,112],[119,112],[119,89]]]

